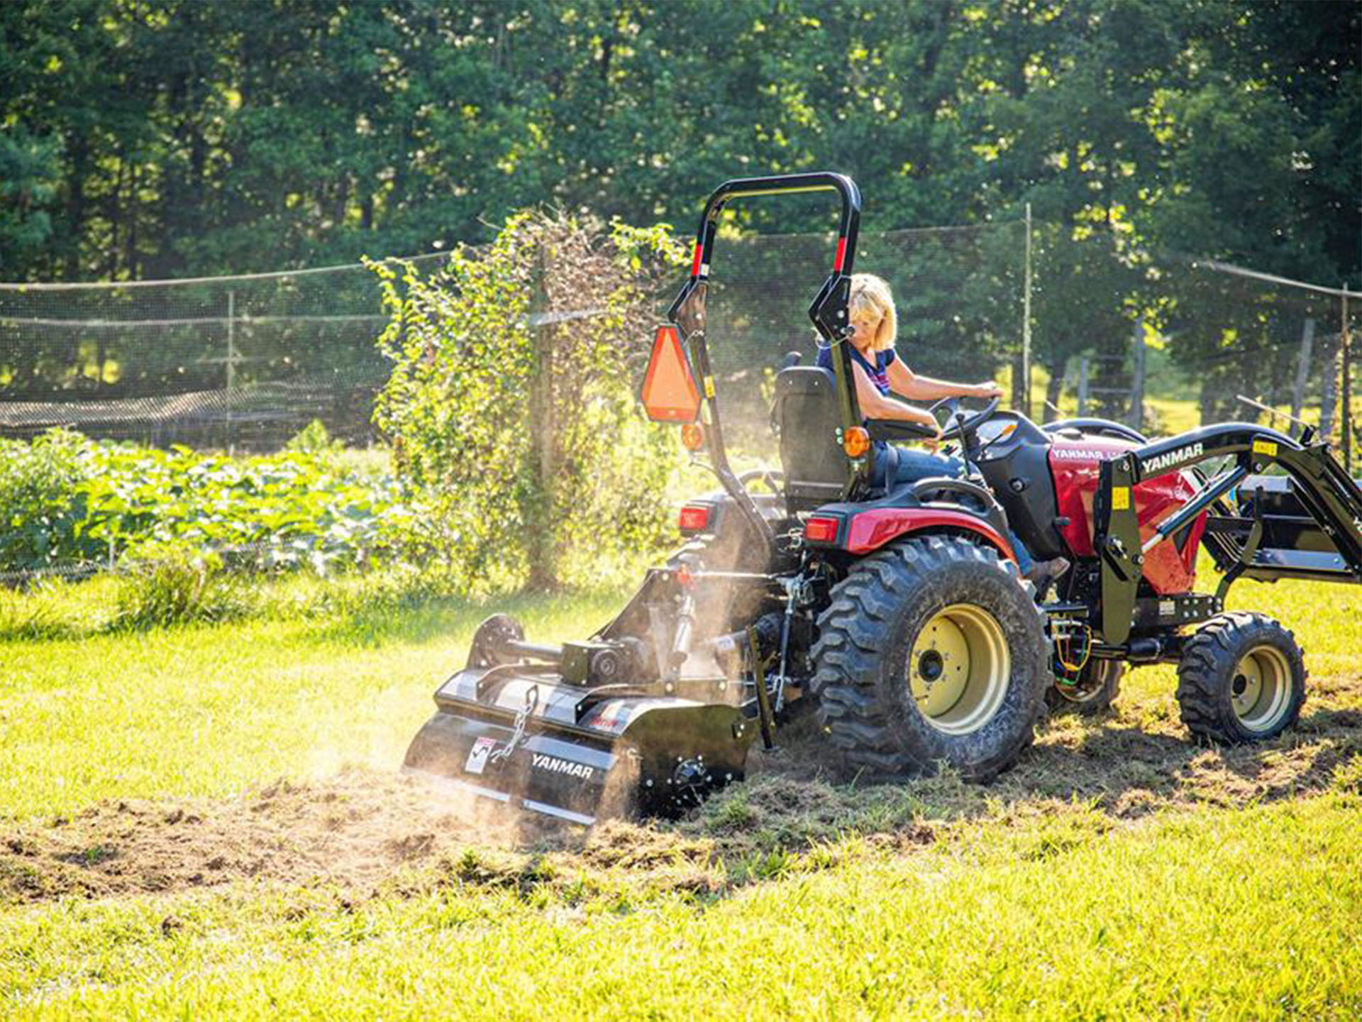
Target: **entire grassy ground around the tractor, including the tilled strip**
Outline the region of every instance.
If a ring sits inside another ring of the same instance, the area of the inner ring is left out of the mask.
[[[618,597],[511,609],[565,638]],[[1312,670],[1265,747],[1189,744],[1141,669],[989,786],[834,786],[805,734],[591,835],[392,773],[488,608],[7,640],[0,1014],[1357,1018],[1362,600],[1231,606]]]

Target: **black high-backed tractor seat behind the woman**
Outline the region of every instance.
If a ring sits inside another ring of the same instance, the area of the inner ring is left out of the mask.
[[[832,373],[817,365],[780,369],[771,418],[780,436],[790,514],[840,500],[850,466],[838,443],[842,416]]]

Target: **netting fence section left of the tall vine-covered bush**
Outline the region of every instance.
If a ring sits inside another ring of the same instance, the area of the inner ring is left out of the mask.
[[[421,270],[445,255],[418,256]],[[275,450],[312,420],[369,436],[385,316],[364,266],[0,285],[0,435]]]

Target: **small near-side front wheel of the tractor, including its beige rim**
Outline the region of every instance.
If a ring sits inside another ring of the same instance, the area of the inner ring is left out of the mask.
[[[1265,741],[1299,718],[1305,679],[1305,654],[1280,623],[1258,613],[1218,615],[1182,649],[1178,709],[1197,737]]]

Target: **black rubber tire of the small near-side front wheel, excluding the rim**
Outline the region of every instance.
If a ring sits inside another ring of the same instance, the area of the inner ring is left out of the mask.
[[[1239,660],[1249,650],[1271,646],[1286,657],[1290,692],[1272,726],[1250,730],[1231,704],[1231,684]],[[1178,710],[1182,724],[1199,739],[1223,745],[1267,741],[1297,722],[1305,704],[1305,653],[1295,635],[1279,621],[1244,610],[1216,615],[1188,639],[1178,661]]]

